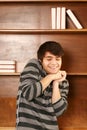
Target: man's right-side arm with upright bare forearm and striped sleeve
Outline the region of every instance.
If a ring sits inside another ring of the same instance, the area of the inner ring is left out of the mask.
[[[69,91],[69,84],[66,80],[66,72],[61,71],[62,76],[58,80],[53,81],[52,104],[56,116],[60,116],[67,108],[67,95]]]

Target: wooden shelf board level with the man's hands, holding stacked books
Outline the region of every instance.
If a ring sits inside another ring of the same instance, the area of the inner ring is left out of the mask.
[[[69,76],[87,76],[87,73],[68,73],[67,75]],[[9,72],[5,72],[5,73],[0,73],[0,76],[20,76],[20,72],[16,72],[16,73],[9,73]]]

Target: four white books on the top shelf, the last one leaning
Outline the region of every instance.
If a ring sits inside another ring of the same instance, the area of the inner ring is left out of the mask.
[[[52,29],[66,29],[66,17],[69,17],[77,29],[82,29],[80,21],[71,9],[66,7],[51,8]]]

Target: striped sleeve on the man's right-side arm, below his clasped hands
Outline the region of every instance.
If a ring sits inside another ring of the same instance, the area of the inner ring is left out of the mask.
[[[62,113],[67,109],[68,92],[69,92],[69,83],[67,80],[64,80],[63,82],[60,83],[61,99],[53,104],[54,111],[57,117],[62,115]]]

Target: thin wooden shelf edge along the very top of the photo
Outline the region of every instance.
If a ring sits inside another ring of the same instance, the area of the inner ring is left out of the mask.
[[[87,0],[0,0],[0,2],[87,2]]]

